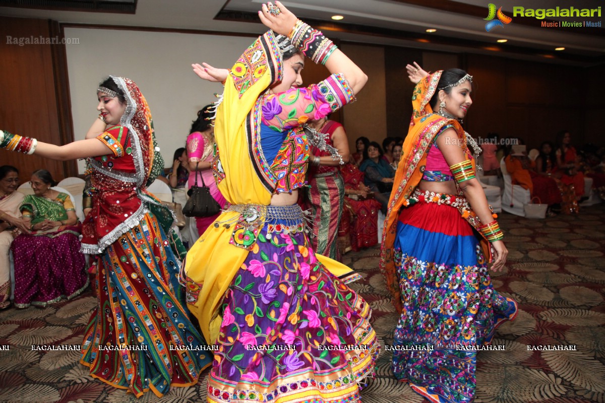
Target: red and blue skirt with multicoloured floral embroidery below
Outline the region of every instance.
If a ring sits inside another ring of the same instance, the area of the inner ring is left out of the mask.
[[[403,347],[393,353],[396,378],[431,402],[473,401],[472,349],[489,344],[517,304],[494,291],[473,228],[456,208],[404,208],[394,247],[404,305],[394,334]]]

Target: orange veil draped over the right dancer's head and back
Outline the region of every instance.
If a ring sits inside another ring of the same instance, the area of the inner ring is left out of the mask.
[[[401,303],[401,294],[399,291],[399,277],[393,261],[393,245],[397,231],[397,220],[399,211],[407,205],[407,199],[416,189],[422,179],[422,172],[427,163],[428,150],[433,144],[435,136],[447,124],[454,126],[458,137],[463,142],[466,149],[465,131],[460,123],[455,119],[445,118],[434,114],[429,105],[431,97],[437,91],[437,83],[443,71],[437,71],[420,80],[414,88],[412,96],[413,114],[410,122],[410,129],[405,138],[402,150],[402,157],[397,171],[395,173],[394,183],[397,188],[391,192],[388,202],[387,216],[384,222],[382,232],[381,257],[379,268],[384,276],[387,290],[393,296],[393,304],[397,312],[401,313],[403,306]],[[473,160],[474,166],[474,160]],[[469,221],[473,227],[477,227],[478,219],[473,211],[463,214],[463,218]],[[482,245],[485,251],[485,245]],[[489,247],[488,254],[489,256]]]

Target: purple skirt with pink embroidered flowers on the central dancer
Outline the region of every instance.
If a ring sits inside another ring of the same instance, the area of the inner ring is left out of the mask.
[[[263,229],[221,311],[209,402],[361,401],[380,348],[370,308],[319,263],[304,232]]]

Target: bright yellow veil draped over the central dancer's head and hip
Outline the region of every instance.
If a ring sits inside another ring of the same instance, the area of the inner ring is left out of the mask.
[[[260,125],[253,109],[263,92],[282,78],[281,54],[272,31],[258,37],[240,56],[225,82],[223,100],[217,108],[214,135],[220,152],[224,179],[218,189],[230,204],[269,205],[267,190],[252,163],[249,135]],[[208,344],[217,340],[222,317],[220,303],[248,250],[229,243],[233,228],[217,225],[235,221],[239,213],[218,216],[195,242],[183,263],[189,310],[198,319]],[[350,268],[324,256],[316,256],[326,268],[342,277]]]

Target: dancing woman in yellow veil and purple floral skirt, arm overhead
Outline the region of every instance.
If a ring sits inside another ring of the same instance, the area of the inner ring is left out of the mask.
[[[345,285],[350,269],[313,252],[296,200],[316,158],[301,124],[350,102],[367,77],[279,2],[262,7],[272,30],[230,71],[194,65],[224,81],[214,167],[231,204],[185,263],[189,309],[218,347],[208,401],[358,402],[379,351],[370,308]],[[332,76],[298,88],[304,59],[290,40]]]

